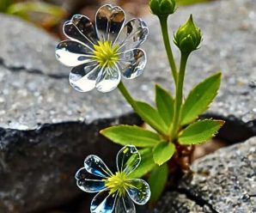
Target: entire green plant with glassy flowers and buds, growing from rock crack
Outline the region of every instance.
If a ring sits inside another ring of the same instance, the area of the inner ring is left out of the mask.
[[[222,120],[198,119],[216,97],[221,82],[220,73],[198,83],[186,99],[183,99],[186,64],[190,54],[198,49],[202,40],[200,29],[194,23],[192,15],[174,34],[174,44],[180,49],[178,69],[168,35],[168,16],[175,11],[175,1],[151,0],[149,6],[151,12],[158,16],[162,27],[162,38],[175,86],[175,93],[172,95],[165,88],[156,85],[154,107],[147,102],[135,100],[121,81],[122,77],[133,79],[140,76],[145,67],[146,54],[138,48],[149,32],[144,21],[132,19],[125,23],[124,11],[107,4],[97,11],[95,24],[84,15],[74,15],[70,21],[66,21],[64,33],[70,40],[64,40],[56,47],[58,60],[73,67],[70,71],[70,85],[73,88],[80,92],[97,88],[103,93],[119,88],[125,100],[152,129],[147,130],[135,125],[115,125],[101,130],[101,134],[113,143],[119,143],[126,148],[139,148],[137,157],[142,159],[142,163],[136,166],[136,169],[134,167],[132,173],[119,173],[118,166],[118,173],[113,175],[109,172],[104,176],[105,179],[109,176],[107,181],[100,179],[92,182],[83,172],[76,174],[76,180],[79,181],[77,185],[85,192],[100,192],[99,189],[107,188],[108,195],[112,195],[104,198],[100,196],[96,201],[93,200],[91,212],[113,212],[115,205],[119,206],[116,212],[125,212],[128,206],[131,207],[131,212],[135,212],[131,204],[133,198],[128,192],[130,186],[126,186],[126,183],[147,173],[151,188],[150,199],[154,203],[167,184],[168,174],[177,168],[186,172],[194,145],[204,143],[215,136],[224,123]],[[99,166],[98,162],[101,160],[95,159],[93,166],[91,162],[90,166],[88,161],[85,162],[85,170],[102,178],[98,170],[102,170],[100,166],[103,164]],[[134,155],[127,155],[124,159],[125,165],[135,161]],[[117,162],[119,163],[118,160]],[[130,197],[122,197],[123,200],[116,204],[116,198],[119,196],[116,196],[115,192],[120,192],[118,194],[122,196],[128,192]],[[138,190],[137,193],[143,194],[143,190]],[[112,204],[109,210],[107,202]]]

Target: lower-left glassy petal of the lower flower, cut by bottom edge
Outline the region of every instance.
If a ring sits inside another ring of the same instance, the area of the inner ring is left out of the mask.
[[[91,202],[91,213],[112,213],[117,193],[109,194],[109,191],[99,192]]]

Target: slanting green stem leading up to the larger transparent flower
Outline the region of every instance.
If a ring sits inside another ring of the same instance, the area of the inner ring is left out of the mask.
[[[162,136],[167,136],[167,133],[164,132],[162,129],[160,129],[159,127],[157,127],[154,124],[150,124],[149,119],[147,119],[147,117],[144,116],[144,112],[137,107],[137,101],[134,100],[131,97],[131,94],[128,92],[128,90],[125,88],[125,85],[123,82],[119,82],[119,91],[121,94],[123,94],[123,96],[125,97],[125,100],[127,100],[127,102],[131,105],[131,107],[133,108],[133,110],[146,122],[148,123],[152,128],[155,129],[155,131],[159,132]]]

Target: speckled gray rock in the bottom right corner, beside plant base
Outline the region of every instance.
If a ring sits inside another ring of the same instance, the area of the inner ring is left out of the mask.
[[[166,193],[155,212],[256,212],[256,137],[194,161],[192,171],[180,180],[179,196]]]

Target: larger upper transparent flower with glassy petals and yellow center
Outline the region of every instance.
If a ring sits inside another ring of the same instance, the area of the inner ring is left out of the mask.
[[[105,93],[117,88],[121,75],[132,79],[142,74],[146,54],[137,48],[149,33],[140,19],[125,23],[118,6],[103,5],[95,15],[95,24],[84,15],[74,15],[64,23],[64,40],[56,47],[56,57],[73,67],[70,84],[80,92],[93,88]]]

